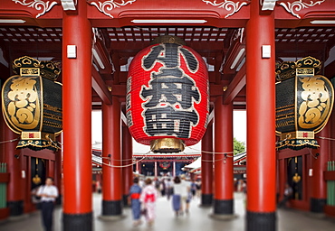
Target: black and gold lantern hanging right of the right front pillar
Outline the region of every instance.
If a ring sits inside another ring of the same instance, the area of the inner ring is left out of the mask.
[[[306,57],[277,65],[276,133],[278,149],[317,148],[314,134],[327,124],[334,101],[330,80],[317,75],[321,61]]]

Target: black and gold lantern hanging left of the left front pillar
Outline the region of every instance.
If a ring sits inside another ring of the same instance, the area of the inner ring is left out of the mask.
[[[55,150],[56,135],[62,132],[62,85],[52,61],[31,57],[14,60],[14,75],[2,89],[2,109],[6,124],[21,134],[17,148]]]

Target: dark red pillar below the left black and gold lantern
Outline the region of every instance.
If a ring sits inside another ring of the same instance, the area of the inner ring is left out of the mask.
[[[14,134],[5,123],[4,139],[8,141],[3,143],[5,153],[5,162],[7,163],[7,172],[9,173],[9,181],[7,184],[7,208],[9,208],[9,216],[17,217],[24,214],[24,181],[22,179],[22,158],[21,150],[16,150],[17,141],[9,142],[19,137]]]

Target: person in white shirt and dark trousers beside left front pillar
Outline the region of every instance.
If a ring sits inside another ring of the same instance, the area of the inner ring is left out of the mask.
[[[48,177],[45,185],[37,191],[37,196],[41,197],[42,222],[45,231],[53,229],[53,208],[58,197],[58,189],[53,185],[53,178]]]

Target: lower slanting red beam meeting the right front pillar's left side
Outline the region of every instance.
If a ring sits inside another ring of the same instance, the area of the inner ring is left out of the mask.
[[[229,104],[234,101],[234,98],[240,93],[240,91],[244,88],[245,81],[245,65],[237,72],[235,78],[229,84],[227,90],[224,95],[224,104]]]

